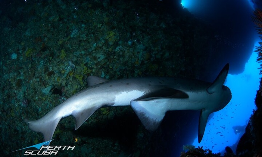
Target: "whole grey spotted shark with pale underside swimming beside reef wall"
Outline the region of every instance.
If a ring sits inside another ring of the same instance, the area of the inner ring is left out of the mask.
[[[226,64],[211,82],[172,77],[135,77],[107,80],[97,76],[87,78],[88,88],[53,108],[38,120],[25,120],[29,128],[52,139],[62,118],[72,115],[78,129],[96,110],[108,106],[131,105],[145,129],[154,131],[167,111],[200,110],[198,142],[200,143],[212,112],[223,109],[231,100],[224,84],[228,74]]]

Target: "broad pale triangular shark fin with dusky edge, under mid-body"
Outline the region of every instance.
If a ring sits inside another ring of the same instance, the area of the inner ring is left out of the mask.
[[[131,101],[131,107],[148,131],[154,131],[162,122],[166,108],[163,102],[156,100],[150,101]]]

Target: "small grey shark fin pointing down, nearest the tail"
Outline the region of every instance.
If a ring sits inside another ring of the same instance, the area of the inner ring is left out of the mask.
[[[85,110],[75,110],[72,115],[76,118],[76,127],[78,129],[100,106],[88,108]]]

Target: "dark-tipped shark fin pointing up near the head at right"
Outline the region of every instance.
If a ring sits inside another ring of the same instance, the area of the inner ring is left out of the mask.
[[[220,73],[218,74],[217,78],[215,79],[215,81],[211,84],[210,87],[207,88],[207,93],[212,94],[216,91],[217,88],[222,88],[225,80],[226,80],[226,76],[229,70],[229,64],[227,63],[223,69],[220,71]]]

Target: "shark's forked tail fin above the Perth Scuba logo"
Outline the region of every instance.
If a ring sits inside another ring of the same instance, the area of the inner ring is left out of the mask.
[[[44,116],[39,120],[25,120],[25,122],[29,124],[29,128],[33,131],[41,132],[44,135],[44,141],[49,141],[52,139],[60,120],[61,118],[47,120]]]

